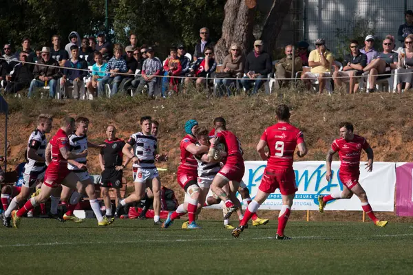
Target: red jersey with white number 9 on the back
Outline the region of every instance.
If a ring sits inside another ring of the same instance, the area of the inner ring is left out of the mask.
[[[270,155],[267,167],[272,169],[293,168],[294,151],[304,142],[303,133],[287,122],[278,122],[265,129],[261,136],[268,144]]]

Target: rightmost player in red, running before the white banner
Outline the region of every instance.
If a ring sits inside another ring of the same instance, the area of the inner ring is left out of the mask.
[[[350,199],[353,194],[359,197],[361,208],[368,214],[368,217],[374,221],[374,224],[380,227],[385,227],[388,221],[381,221],[374,215],[370,203],[368,203],[366,191],[359,184],[360,176],[360,156],[363,149],[367,153],[368,163],[366,169],[371,172],[373,169],[373,149],[368,144],[366,138],[354,134],[354,127],[350,122],[342,122],[339,124],[340,138],[337,138],[331,144],[330,151],[327,153],[326,159],[326,179],[332,179],[331,162],[332,155],[339,152],[340,169],[339,177],[343,183],[343,191],[334,192],[327,196],[319,196],[319,211],[324,212],[326,203],[333,199]]]

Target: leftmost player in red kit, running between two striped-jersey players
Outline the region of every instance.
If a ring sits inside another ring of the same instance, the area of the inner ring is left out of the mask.
[[[70,117],[63,118],[63,120],[61,120],[61,128],[57,131],[54,137],[52,137],[46,147],[45,160],[48,166],[45,172],[43,185],[41,186],[41,192],[36,197],[29,199],[19,211],[13,210],[12,223],[14,228],[19,227],[23,214],[38,206],[39,203],[49,199],[50,195],[59,197],[61,189],[56,187],[63,184],[76,189],[78,177],[75,173],[71,173],[70,170],[67,169],[67,159],[85,157],[87,156],[87,150],[78,154],[70,152],[67,133],[72,133],[73,130],[74,119]]]

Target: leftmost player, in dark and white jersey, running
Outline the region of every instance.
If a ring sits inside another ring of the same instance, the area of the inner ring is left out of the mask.
[[[28,163],[24,166],[23,171],[23,184],[21,186],[20,194],[12,199],[5,214],[3,215],[3,221],[5,224],[10,224],[12,211],[17,209],[19,205],[23,205],[32,194],[34,188],[39,181],[43,180],[45,175],[46,160],[45,160],[45,148],[47,145],[46,133],[50,133],[52,129],[52,116],[46,113],[42,113],[37,118],[37,127],[30,134],[27,147]],[[59,203],[59,201],[58,201]],[[57,213],[52,214],[52,217],[63,221]]]

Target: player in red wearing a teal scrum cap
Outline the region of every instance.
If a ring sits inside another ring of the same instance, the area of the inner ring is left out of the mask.
[[[198,162],[193,155],[200,155],[208,151],[208,146],[196,146],[196,135],[199,130],[196,120],[188,120],[185,123],[184,139],[180,142],[180,164],[178,166],[178,184],[184,188],[187,201],[184,201],[174,212],[169,212],[167,219],[162,223],[162,228],[169,228],[173,220],[188,212],[189,225],[187,229],[199,229],[195,223],[195,215],[200,199],[200,186],[198,186]]]

